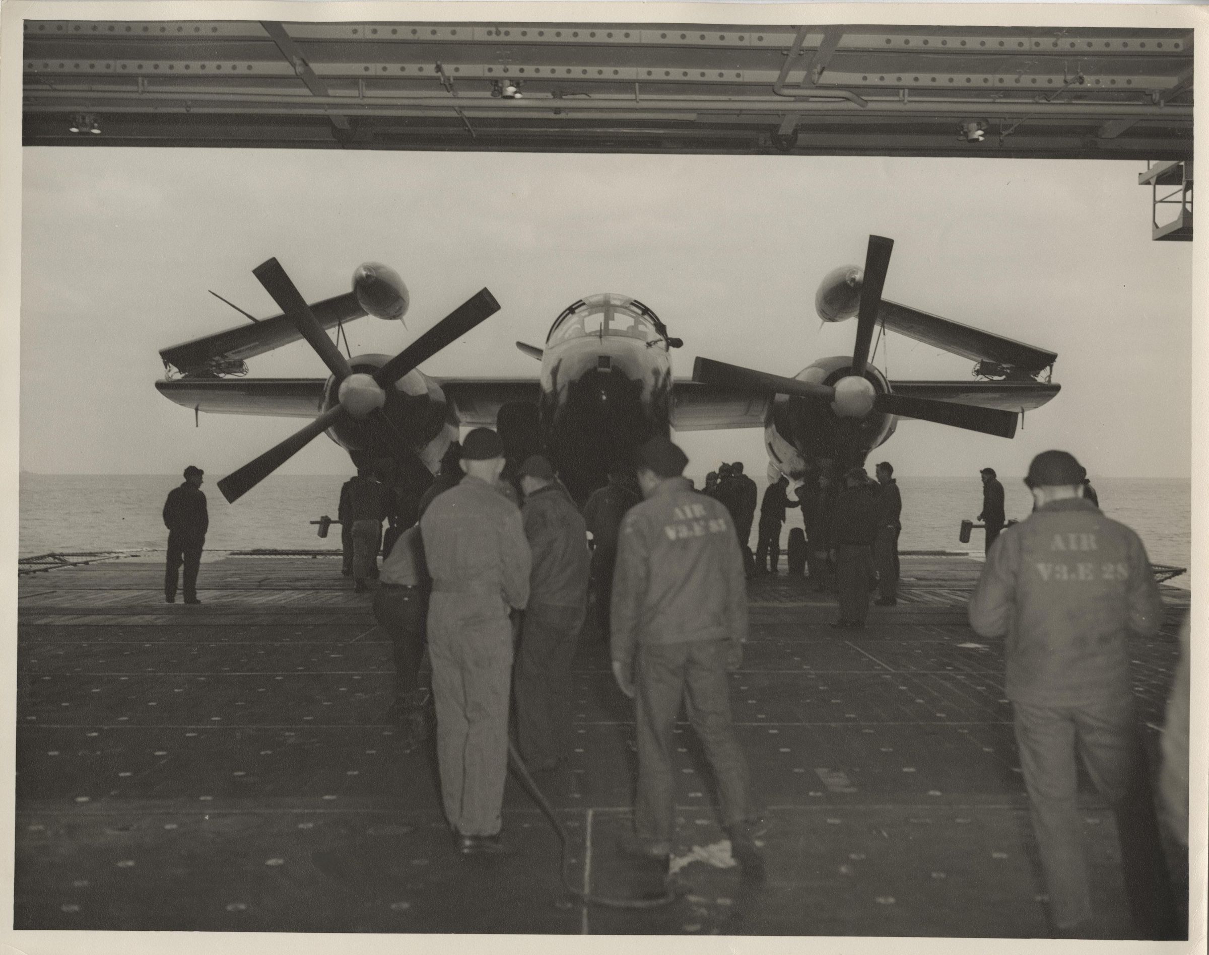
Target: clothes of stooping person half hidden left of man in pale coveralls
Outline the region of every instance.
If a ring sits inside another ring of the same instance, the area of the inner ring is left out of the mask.
[[[416,708],[428,701],[428,691],[420,687],[420,662],[424,656],[424,619],[432,583],[418,523],[399,534],[382,561],[378,583],[374,618],[394,648],[394,699]]]

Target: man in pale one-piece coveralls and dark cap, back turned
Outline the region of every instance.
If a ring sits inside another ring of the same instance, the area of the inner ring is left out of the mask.
[[[504,446],[490,428],[462,444],[465,478],[420,519],[433,592],[428,654],[441,798],[463,852],[501,852],[513,666],[509,610],[528,602],[521,513],[498,490]]]

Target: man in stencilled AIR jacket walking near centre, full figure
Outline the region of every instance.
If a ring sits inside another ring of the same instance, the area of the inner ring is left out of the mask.
[[[673,728],[688,717],[717,780],[731,853],[762,870],[747,764],[730,722],[727,671],[747,637],[747,590],[727,510],[688,488],[688,458],[666,438],[638,452],[643,497],[621,525],[613,586],[613,675],[635,700],[638,786],[626,852],[666,864],[676,785]]]

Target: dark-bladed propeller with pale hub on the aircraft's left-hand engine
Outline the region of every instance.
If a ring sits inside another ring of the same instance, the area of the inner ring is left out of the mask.
[[[243,494],[277,470],[294,455],[329,428],[341,421],[371,421],[387,444],[398,442],[400,450],[409,450],[403,435],[382,411],[386,405],[386,389],[415,369],[422,361],[432,358],[445,346],[452,343],[479,323],[499,311],[499,302],[487,289],[459,305],[453,312],[438,322],[399,354],[387,361],[372,375],[354,372],[348,361],[336,348],[323,326],[311,312],[306,300],[299,294],[290,277],[276,259],[256,266],[253,274],[273,297],[282,312],[306,338],[311,347],[335,376],[337,404],[324,411],[314,421],[291,434],[284,441],[253,458],[238,470],[232,471],[218,482],[219,491],[229,502],[235,503]]]

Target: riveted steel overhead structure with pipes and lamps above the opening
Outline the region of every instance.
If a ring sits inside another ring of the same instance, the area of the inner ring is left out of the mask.
[[[27,21],[25,145],[1187,161],[1192,30]]]

